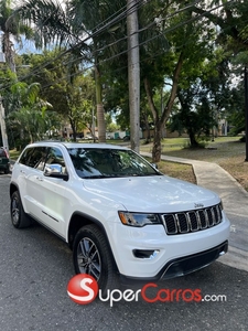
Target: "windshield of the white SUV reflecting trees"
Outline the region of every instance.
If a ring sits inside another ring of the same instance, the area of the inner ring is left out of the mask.
[[[69,148],[68,153],[80,178],[112,178],[160,174],[132,150]]]

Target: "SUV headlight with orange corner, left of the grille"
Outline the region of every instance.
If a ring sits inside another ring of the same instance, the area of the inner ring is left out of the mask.
[[[144,226],[148,224],[161,224],[157,214],[118,212],[122,224],[131,226]]]

